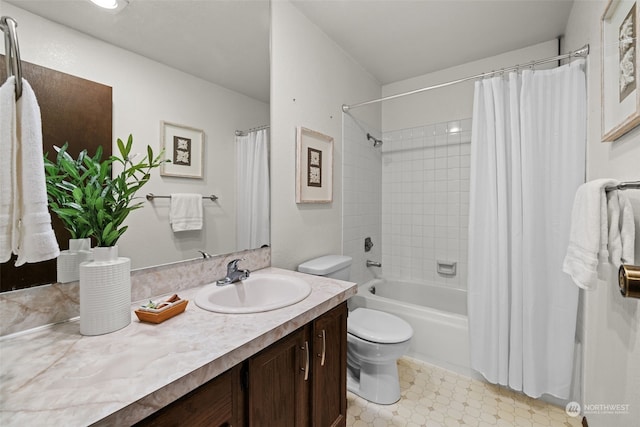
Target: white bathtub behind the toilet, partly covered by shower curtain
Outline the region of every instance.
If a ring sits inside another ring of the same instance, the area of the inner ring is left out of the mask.
[[[477,377],[469,362],[467,293],[437,284],[374,279],[358,287],[349,309],[382,310],[407,321],[413,338],[407,356]]]

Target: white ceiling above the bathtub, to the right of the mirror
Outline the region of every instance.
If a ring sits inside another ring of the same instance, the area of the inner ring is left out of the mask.
[[[573,0],[296,2],[382,84],[552,40],[564,33],[572,4]]]

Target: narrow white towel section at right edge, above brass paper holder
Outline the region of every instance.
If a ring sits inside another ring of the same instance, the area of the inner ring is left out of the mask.
[[[621,264],[632,264],[635,257],[635,224],[633,208],[623,191],[607,194],[607,214],[609,217],[609,258],[611,264],[620,268]]]

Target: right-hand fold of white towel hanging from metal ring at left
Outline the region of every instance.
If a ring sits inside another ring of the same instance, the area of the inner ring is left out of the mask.
[[[18,239],[13,251],[16,266],[56,258],[60,249],[51,228],[47,209],[47,188],[42,158],[42,122],[36,95],[22,79],[22,96],[17,102],[16,202]],[[15,211],[14,211],[15,212]]]

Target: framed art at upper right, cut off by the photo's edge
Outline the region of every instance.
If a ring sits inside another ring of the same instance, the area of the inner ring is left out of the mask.
[[[638,5],[611,0],[602,15],[602,141],[615,141],[640,123]]]

